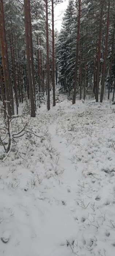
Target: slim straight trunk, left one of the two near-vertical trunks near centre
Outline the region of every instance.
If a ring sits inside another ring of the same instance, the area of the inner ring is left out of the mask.
[[[47,45],[47,109],[50,110],[50,66],[49,66],[49,31],[48,31],[47,0],[46,0],[46,45]]]

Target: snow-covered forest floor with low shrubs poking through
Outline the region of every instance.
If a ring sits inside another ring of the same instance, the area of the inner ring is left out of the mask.
[[[0,165],[0,256],[115,256],[115,105],[60,95],[29,121],[45,136]]]

